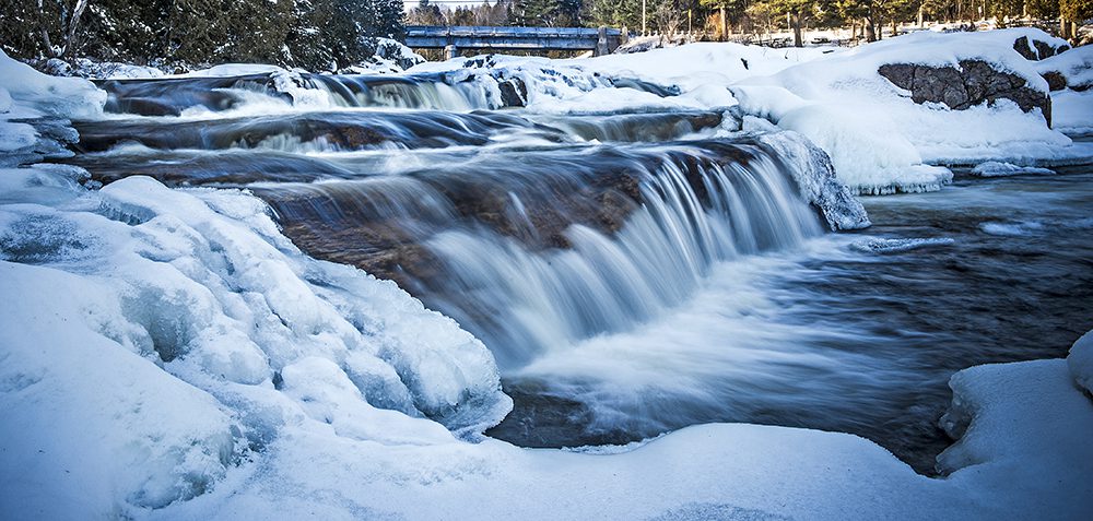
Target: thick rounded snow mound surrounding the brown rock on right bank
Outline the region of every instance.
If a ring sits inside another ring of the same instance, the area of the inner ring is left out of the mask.
[[[827,151],[839,178],[865,193],[936,190],[951,179],[930,164],[976,164],[989,158],[1022,164],[1074,162],[1093,156],[1053,131],[1038,109],[1022,111],[999,99],[965,110],[941,104],[916,104],[878,70],[909,63],[961,69],[963,60],[995,70],[1047,93],[1035,62],[1014,49],[1020,37],[1051,39],[1030,28],[984,33],[919,32],[861,46],[753,76],[731,90],[744,114],[797,130]]]

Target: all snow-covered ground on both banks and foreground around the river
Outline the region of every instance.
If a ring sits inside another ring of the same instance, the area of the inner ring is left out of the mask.
[[[978,58],[1046,92],[1012,49],[1033,34],[913,35],[830,55],[704,44],[490,68],[522,74],[530,110],[737,106],[752,128],[811,138],[851,187],[886,192],[937,188],[951,174],[933,162],[1093,155],[1036,110],[918,105],[877,74],[883,63]],[[626,75],[679,95],[600,88]],[[246,191],[141,177],[90,190],[78,168],[15,167],[60,152],[40,127],[12,120],[94,118],[104,100],[85,81],[0,55],[5,519],[1093,512],[1089,334],[1067,360],[955,375],[944,426],[960,440],[939,458],[943,478],[856,436],[787,427],[695,426],[616,453],[484,439],[510,402],[481,342],[393,283],[306,257]]]

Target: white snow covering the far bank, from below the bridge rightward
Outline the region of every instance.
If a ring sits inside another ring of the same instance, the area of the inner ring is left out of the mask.
[[[1086,52],[1074,50],[1034,62],[1019,55],[1021,37],[1051,46],[1063,40],[1034,28],[940,34],[916,32],[853,50],[769,49],[702,43],[590,59],[546,60],[490,55],[423,63],[410,72],[451,71],[477,63],[500,76],[520,78],[530,91],[528,109],[596,114],[737,105],[749,129],[765,119],[804,134],[831,156],[839,179],[858,193],[938,190],[952,180],[948,166],[1006,161],[1021,166],[1085,163],[1093,146],[1048,128],[1039,110],[1023,113],[1001,99],[965,110],[916,104],[878,73],[886,63],[960,67],[980,60],[1047,93],[1039,75],[1053,60],[1076,78]],[[1031,45],[1031,44],[1030,44]],[[1074,57],[1066,58],[1074,52]],[[611,88],[612,79],[634,78],[679,93],[663,96]],[[734,98],[734,102],[733,102]],[[1084,93],[1053,95],[1056,125],[1083,132],[1093,120]],[[748,119],[751,118],[751,119]],[[837,122],[837,125],[833,125]]]

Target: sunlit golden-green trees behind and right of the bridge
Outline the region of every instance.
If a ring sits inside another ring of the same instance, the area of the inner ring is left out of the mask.
[[[450,0],[420,0],[411,25],[615,26],[648,33],[703,32],[715,38],[730,33],[788,29],[800,46],[806,26],[851,27],[865,39],[881,36],[884,24],[912,21],[975,21],[999,24],[1025,15],[1061,19],[1060,33],[1093,19],[1093,0],[497,0],[458,5]]]

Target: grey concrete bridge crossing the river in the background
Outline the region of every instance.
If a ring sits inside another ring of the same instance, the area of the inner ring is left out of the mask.
[[[448,59],[459,56],[459,49],[591,50],[593,56],[600,56],[625,42],[623,31],[609,27],[407,26],[407,46],[446,49]]]

